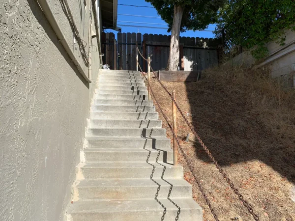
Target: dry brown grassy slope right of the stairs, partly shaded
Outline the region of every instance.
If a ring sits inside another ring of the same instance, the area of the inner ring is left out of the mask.
[[[295,221],[294,90],[285,91],[267,71],[244,68],[212,69],[199,82],[164,84],[177,90],[181,109],[260,220]],[[171,99],[155,79],[151,85],[171,123]],[[178,135],[184,137],[190,131],[179,113],[177,118]],[[181,144],[219,220],[254,220],[203,149]],[[179,162],[194,199],[204,208],[204,220],[213,221],[181,154]]]

